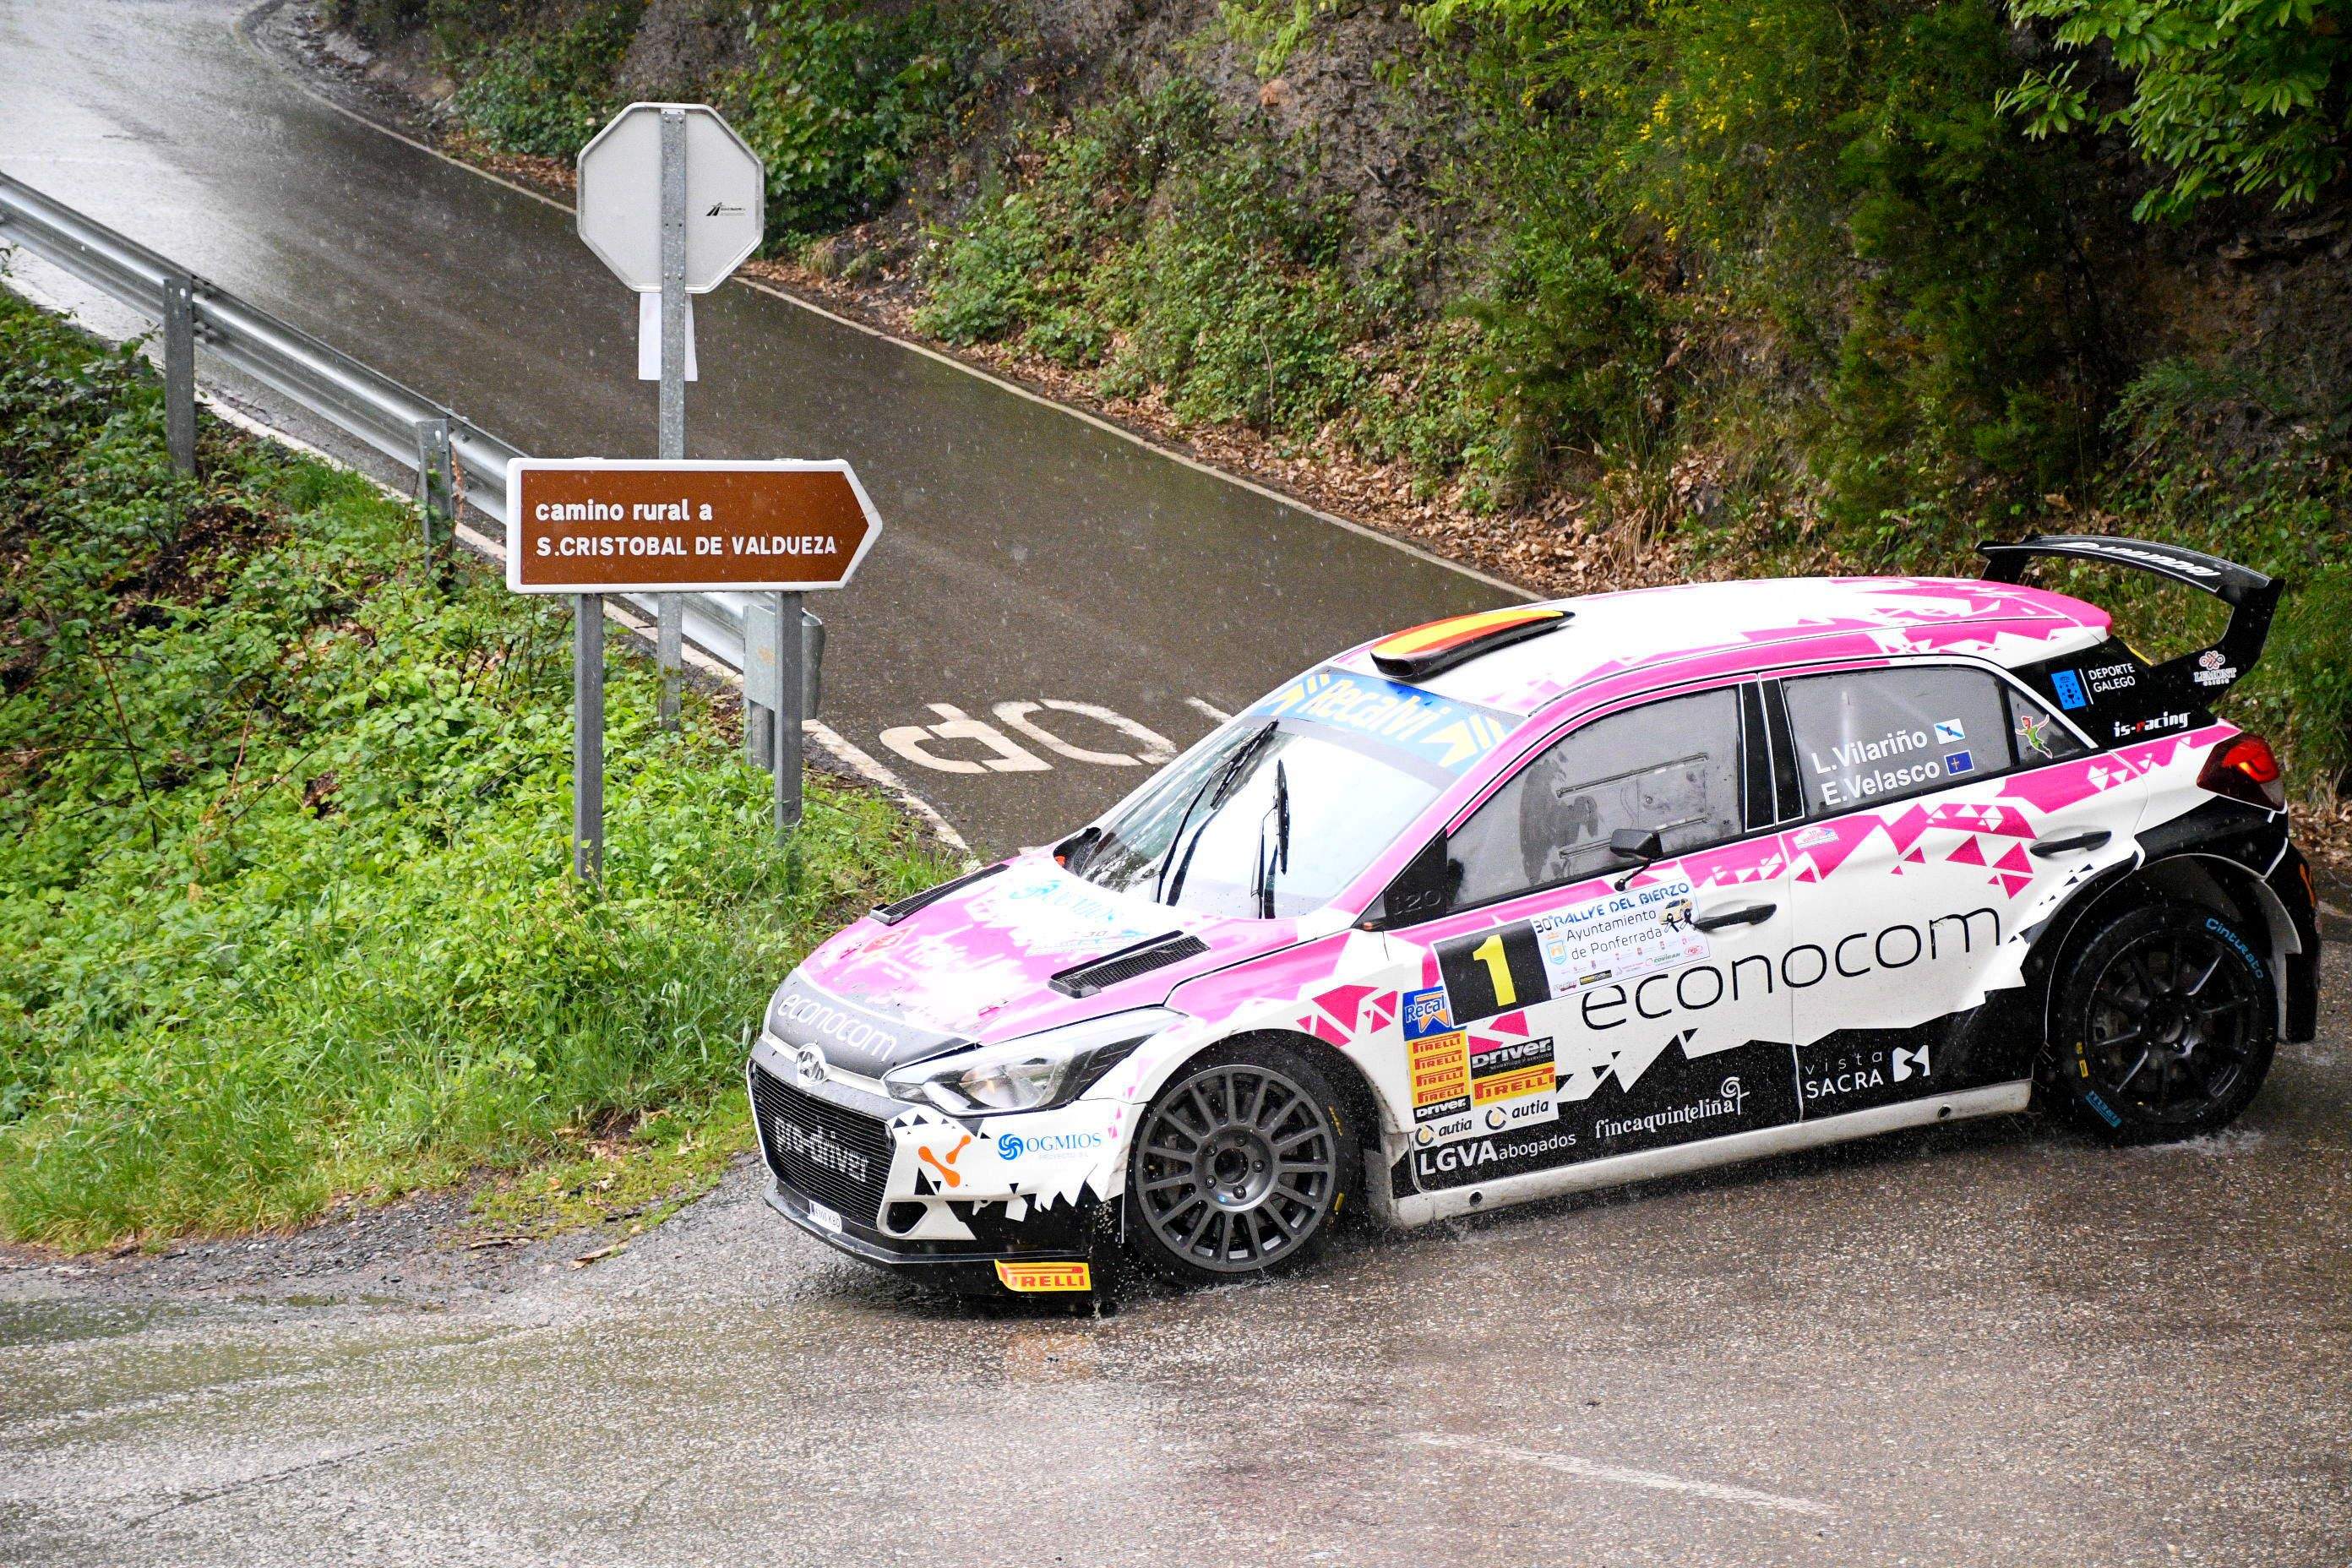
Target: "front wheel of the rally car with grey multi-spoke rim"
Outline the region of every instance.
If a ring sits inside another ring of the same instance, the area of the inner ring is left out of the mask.
[[[1221,1046],[1136,1121],[1127,1244],[1178,1284],[1230,1284],[1322,1255],[1362,1180],[1355,1117],[1303,1053]]]

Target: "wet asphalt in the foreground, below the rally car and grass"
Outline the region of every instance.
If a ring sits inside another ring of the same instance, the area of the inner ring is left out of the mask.
[[[2345,959],[2220,1138],[1903,1133],[1108,1319],[910,1295],[748,1171],[437,1309],[0,1272],[0,1556],[2340,1568]]]

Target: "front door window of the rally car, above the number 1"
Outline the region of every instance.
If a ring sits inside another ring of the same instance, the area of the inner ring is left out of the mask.
[[[1733,689],[1649,703],[1552,743],[1446,842],[1456,905],[1489,903],[1623,865],[1618,827],[1651,827],[1679,856],[1740,835]]]

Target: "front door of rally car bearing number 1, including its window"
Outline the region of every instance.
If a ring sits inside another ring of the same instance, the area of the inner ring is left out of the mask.
[[[1437,976],[1404,1009],[1423,1187],[1797,1114],[1783,867],[1743,837],[1740,764],[1738,689],[1668,698],[1569,731],[1451,835],[1456,912],[1390,938]],[[1668,856],[1625,865],[1621,827]]]

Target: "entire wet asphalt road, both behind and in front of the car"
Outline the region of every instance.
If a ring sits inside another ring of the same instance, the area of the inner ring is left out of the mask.
[[[567,219],[235,14],[0,2],[0,167],[532,449],[642,451]],[[1061,698],[1183,741],[1185,698],[1498,597],[776,299],[706,301],[701,348],[696,451],[875,489],[830,717],[985,846],[1138,769],[929,773],[884,729]],[[2352,1563],[2343,971],[2216,1140],[1896,1135],[1108,1319],[910,1295],[748,1171],[506,1291],[0,1267],[0,1561]]]

